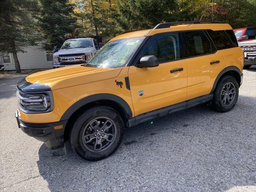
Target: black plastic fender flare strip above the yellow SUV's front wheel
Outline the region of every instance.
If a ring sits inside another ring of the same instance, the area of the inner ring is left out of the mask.
[[[99,100],[110,100],[110,101],[116,102],[122,108],[122,110],[124,110],[124,112],[126,113],[126,118],[128,118],[128,119],[132,118],[132,110],[131,110],[130,106],[128,105],[128,103],[124,99],[122,99],[119,96],[116,96],[114,94],[101,93],[101,94],[94,94],[94,95],[87,96],[85,98],[78,100],[74,104],[72,104],[72,106],[70,106],[64,112],[64,114],[60,118],[60,121],[68,120],[70,118],[70,116],[72,114],[74,114],[74,112],[76,112],[82,106],[84,106],[90,102],[95,102],[95,101],[99,101]]]

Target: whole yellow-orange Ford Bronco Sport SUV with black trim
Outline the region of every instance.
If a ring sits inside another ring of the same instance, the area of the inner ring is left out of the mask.
[[[231,110],[243,66],[229,24],[161,23],[112,38],[87,64],[27,76],[17,85],[16,118],[48,148],[69,140],[76,154],[99,160],[125,127],[202,103]]]

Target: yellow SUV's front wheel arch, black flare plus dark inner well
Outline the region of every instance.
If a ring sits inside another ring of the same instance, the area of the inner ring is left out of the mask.
[[[93,106],[109,106],[114,108],[121,115],[122,119],[124,120],[124,124],[126,124],[128,119],[132,118],[132,110],[129,104],[119,96],[105,93],[90,95],[74,103],[62,115],[60,121],[68,120],[64,130],[65,141],[68,140],[69,132],[72,128],[72,124],[76,120],[76,116]]]

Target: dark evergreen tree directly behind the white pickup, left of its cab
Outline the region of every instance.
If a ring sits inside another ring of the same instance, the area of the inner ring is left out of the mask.
[[[39,0],[38,26],[44,38],[44,49],[51,51],[62,46],[65,35],[72,34],[76,26],[74,5],[68,0]]]

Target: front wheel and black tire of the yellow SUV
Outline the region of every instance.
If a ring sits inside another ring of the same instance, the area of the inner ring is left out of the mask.
[[[80,157],[89,161],[100,160],[116,150],[123,130],[124,122],[116,110],[108,106],[93,107],[75,120],[70,131],[70,145]]]

